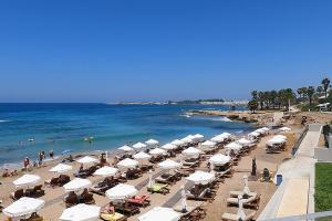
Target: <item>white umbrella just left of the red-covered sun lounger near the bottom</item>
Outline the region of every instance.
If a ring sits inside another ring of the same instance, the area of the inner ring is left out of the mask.
[[[132,185],[120,183],[106,191],[110,200],[124,200],[137,194],[138,190]]]

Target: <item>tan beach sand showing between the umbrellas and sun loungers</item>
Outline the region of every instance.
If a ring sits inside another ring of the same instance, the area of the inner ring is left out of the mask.
[[[207,215],[205,220],[220,220],[220,217],[224,212],[237,212],[237,208],[227,207],[226,199],[229,197],[230,190],[241,190],[243,187],[242,178],[245,175],[250,175],[251,169],[251,160],[255,157],[257,159],[257,167],[258,171],[261,172],[263,168],[268,168],[271,172],[276,172],[278,165],[282,162],[282,160],[286,160],[290,158],[290,149],[294,145],[297,137],[299,136],[299,133],[301,131],[300,128],[293,128],[292,133],[287,134],[288,143],[287,143],[287,150],[282,151],[280,154],[267,154],[264,150],[264,145],[268,139],[272,137],[272,135],[268,135],[263,137],[260,143],[258,144],[257,148],[250,152],[250,155],[245,156],[239,161],[238,166],[234,167],[235,173],[231,178],[228,178],[225,180],[225,183],[219,185],[219,189],[217,191],[217,196],[212,202],[197,202],[197,201],[190,201],[188,200],[188,204],[201,204],[203,208],[206,209]],[[219,152],[225,154],[225,149],[219,150]],[[108,162],[112,162],[112,159],[115,154],[112,154],[108,156]],[[174,158],[177,160],[177,158]],[[51,179],[54,177],[52,172],[49,172],[49,169],[58,164],[59,160],[49,161],[45,162],[45,166],[41,168],[34,168],[32,172],[34,175],[39,175],[42,178],[42,181]],[[73,178],[73,171],[76,171],[79,169],[77,162],[71,162],[71,166],[73,166],[73,170],[71,172],[68,172],[68,175]],[[207,161],[204,161],[200,165],[200,168],[197,168],[196,170],[207,170]],[[159,172],[159,169],[156,168],[156,170],[153,172],[153,176],[156,176]],[[10,199],[9,194],[10,192],[14,191],[14,186],[12,185],[12,181],[17,179],[15,177],[10,178],[1,178],[1,188],[0,188],[0,199],[3,200],[2,206],[7,207],[10,203],[12,203],[12,199]],[[89,179],[96,183],[101,181],[102,177],[89,177]],[[146,186],[148,181],[148,175],[144,173],[141,178],[135,180],[128,180],[128,185],[135,186],[141,194],[148,194],[149,199],[152,201],[152,204],[146,208],[141,209],[141,213],[136,214],[134,217],[128,218],[129,221],[137,220],[137,217],[142,213],[151,210],[154,207],[163,206],[163,207],[175,207],[178,204],[180,198],[179,198],[179,190],[183,185],[186,185],[185,178],[181,178],[180,181],[176,182],[170,187],[170,192],[166,196],[154,193],[151,194],[147,192]],[[41,182],[42,183],[42,182]],[[259,210],[257,211],[256,217],[260,213],[260,211],[264,208],[264,204],[269,201],[272,193],[276,191],[276,185],[273,182],[261,182],[261,181],[249,181],[249,187],[251,191],[256,191],[257,193],[261,194],[261,200],[259,204]],[[59,217],[61,215],[62,211],[65,209],[64,203],[64,197],[66,196],[63,188],[49,188],[43,187],[45,190],[45,194],[41,197],[41,199],[45,200],[45,206],[43,209],[39,212],[39,214],[43,215],[46,220],[53,221],[59,220]],[[110,200],[106,197],[102,197],[98,194],[94,194],[94,199],[96,202],[96,206],[103,207],[110,202]],[[4,220],[4,217],[1,215],[1,220]]]

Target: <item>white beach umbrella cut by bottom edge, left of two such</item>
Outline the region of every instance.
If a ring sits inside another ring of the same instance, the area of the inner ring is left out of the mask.
[[[92,204],[76,204],[63,210],[61,221],[96,221],[101,213],[101,207]]]

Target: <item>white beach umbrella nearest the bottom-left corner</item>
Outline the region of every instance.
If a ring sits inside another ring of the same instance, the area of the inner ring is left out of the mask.
[[[39,211],[45,204],[44,200],[22,197],[3,209],[3,214],[10,218],[28,217]]]

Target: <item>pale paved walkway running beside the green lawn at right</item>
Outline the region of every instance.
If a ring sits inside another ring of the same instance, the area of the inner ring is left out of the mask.
[[[314,212],[314,148],[318,146],[321,125],[310,125],[295,157],[280,165],[280,185],[258,220]]]

